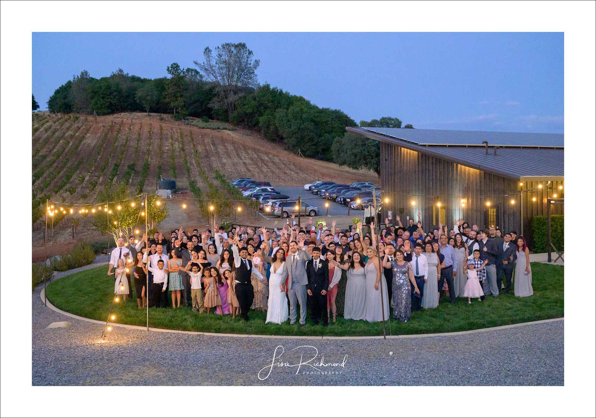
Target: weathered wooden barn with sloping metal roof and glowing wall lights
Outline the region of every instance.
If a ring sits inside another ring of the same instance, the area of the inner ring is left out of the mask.
[[[532,217],[564,196],[564,135],[399,128],[348,131],[381,143],[383,218],[417,220],[425,231],[455,219],[516,230],[533,248]],[[386,202],[389,199],[389,202]],[[552,205],[551,214],[563,214]]]

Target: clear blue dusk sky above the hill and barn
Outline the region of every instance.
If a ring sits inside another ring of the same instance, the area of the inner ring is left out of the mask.
[[[563,33],[33,33],[33,94],[44,108],[81,70],[166,76],[223,42],[246,42],[261,84],[356,122],[563,133]]]

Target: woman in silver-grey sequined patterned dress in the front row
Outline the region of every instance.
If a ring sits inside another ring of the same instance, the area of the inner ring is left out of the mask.
[[[420,294],[412,266],[403,260],[402,250],[397,250],[395,260],[389,262],[389,258],[385,256],[383,267],[393,270],[393,318],[401,322],[409,321],[412,306],[411,286],[414,286],[414,293]]]

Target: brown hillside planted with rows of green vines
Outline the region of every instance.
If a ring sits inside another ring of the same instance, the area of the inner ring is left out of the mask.
[[[175,179],[179,190],[188,189],[190,178],[206,187],[194,150],[213,180],[219,170],[228,179],[252,177],[274,186],[319,179],[378,183],[373,171],[302,158],[250,130],[197,128],[169,115],[160,121],[159,115],[147,113],[93,118],[38,112],[32,135],[33,195],[61,196],[65,202],[93,202],[98,190],[122,181],[133,190],[154,192],[160,174]]]

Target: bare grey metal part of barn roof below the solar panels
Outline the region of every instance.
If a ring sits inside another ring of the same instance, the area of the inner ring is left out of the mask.
[[[457,164],[465,165],[465,167],[476,168],[477,170],[507,177],[508,179],[564,176],[563,147],[499,147],[496,149],[495,156],[496,144],[495,146],[489,146],[488,155],[486,155],[485,146],[418,145],[375,133],[371,131],[370,128],[349,127],[347,130],[376,141],[398,145],[427,155],[433,155],[448,161],[456,162]],[[405,129],[400,129],[400,131],[402,130]],[[490,144],[491,143],[489,142],[489,145]]]

